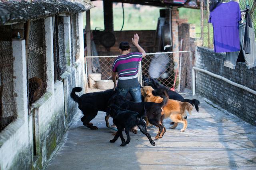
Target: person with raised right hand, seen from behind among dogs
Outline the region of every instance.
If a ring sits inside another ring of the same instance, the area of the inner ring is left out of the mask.
[[[118,93],[126,96],[130,92],[134,102],[141,102],[140,84],[138,82],[138,65],[142,57],[146,56],[146,52],[140,45],[138,34],[132,38],[132,43],[137,47],[139,52],[131,53],[128,42],[122,41],[119,45],[120,56],[116,58],[112,67],[112,80],[114,87],[118,88]],[[118,76],[118,84],[116,77]]]

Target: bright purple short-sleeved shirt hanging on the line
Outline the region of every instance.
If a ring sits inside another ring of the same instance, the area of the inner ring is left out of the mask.
[[[220,3],[210,12],[213,27],[214,52],[240,51],[239,21],[241,11],[237,2]]]

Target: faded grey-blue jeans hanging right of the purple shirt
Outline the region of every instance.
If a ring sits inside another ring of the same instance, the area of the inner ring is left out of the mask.
[[[255,33],[254,33],[253,26],[252,26],[252,28],[249,27],[251,53],[246,54],[245,51],[243,50],[243,47],[244,47],[244,31],[245,31],[245,23],[239,25],[239,37],[240,37],[240,46],[241,46],[240,48],[243,52],[244,60],[245,60],[245,64],[247,66],[247,69],[249,69],[249,68],[252,68],[252,67],[256,66]],[[224,66],[235,69],[236,61],[237,61],[239,52],[240,51],[226,53],[226,59],[225,59],[225,62],[224,62]]]

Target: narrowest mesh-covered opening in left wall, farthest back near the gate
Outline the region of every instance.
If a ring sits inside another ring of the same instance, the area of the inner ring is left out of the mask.
[[[71,64],[79,58],[79,35],[78,35],[78,15],[70,16],[71,27]]]

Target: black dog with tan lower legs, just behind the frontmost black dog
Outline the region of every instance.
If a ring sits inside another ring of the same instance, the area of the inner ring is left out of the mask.
[[[131,102],[126,100],[125,97],[114,94],[110,100],[108,101],[109,105],[116,105],[118,107],[121,107],[122,109],[127,109],[131,111],[136,111],[140,115],[144,114],[144,107],[146,109],[146,115],[144,115],[145,118],[148,119],[149,123],[152,125],[155,125],[158,127],[159,131],[155,137],[155,139],[162,138],[164,133],[166,132],[166,128],[163,126],[163,119],[164,114],[162,114],[162,107],[166,105],[168,101],[168,95],[164,96],[164,100],[161,103],[154,103],[154,102]],[[108,122],[109,116],[105,117],[106,123]]]

